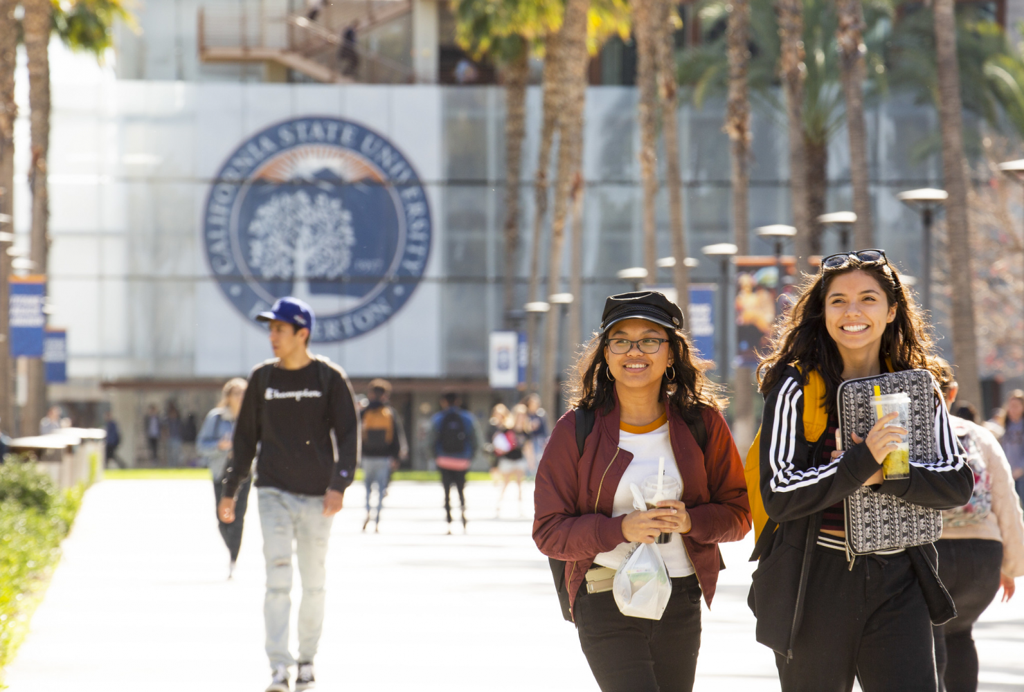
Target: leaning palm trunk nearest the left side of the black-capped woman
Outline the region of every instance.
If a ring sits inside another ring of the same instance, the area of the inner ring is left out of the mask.
[[[587,10],[590,0],[568,0],[565,3],[565,18],[562,24],[559,46],[564,60],[564,106],[559,109],[558,129],[561,139],[558,144],[558,169],[555,178],[555,208],[551,219],[551,246],[548,252],[548,294],[558,293],[562,266],[562,251],[565,245],[565,218],[568,211],[569,192],[572,181],[582,170],[583,159],[583,110],[587,93]],[[541,400],[551,422],[558,420],[560,410],[557,403],[555,370],[558,358],[558,334],[560,332],[558,310],[548,312],[548,329],[545,332],[544,370],[541,374]]]

